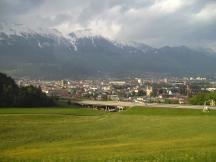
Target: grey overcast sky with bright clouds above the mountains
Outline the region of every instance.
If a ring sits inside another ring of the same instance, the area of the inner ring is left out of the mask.
[[[0,21],[216,50],[216,0],[0,0]]]

